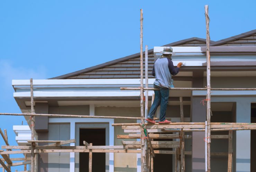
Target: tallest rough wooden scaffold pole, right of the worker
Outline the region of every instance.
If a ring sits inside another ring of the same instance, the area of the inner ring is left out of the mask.
[[[211,69],[210,69],[210,33],[209,33],[209,15],[208,5],[204,6],[205,9],[205,22],[206,22],[206,60],[207,60],[207,98],[206,98],[206,118],[207,118],[207,170],[211,172]]]

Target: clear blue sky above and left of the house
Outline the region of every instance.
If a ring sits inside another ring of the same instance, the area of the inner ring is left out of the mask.
[[[213,41],[256,29],[254,0],[1,1],[0,111],[20,112],[12,79],[51,78],[138,53],[140,8],[144,47],[205,38],[205,4]],[[22,120],[0,116],[11,145],[12,125]]]

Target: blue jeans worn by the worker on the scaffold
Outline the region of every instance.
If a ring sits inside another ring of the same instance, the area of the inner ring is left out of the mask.
[[[153,119],[156,109],[159,105],[161,105],[160,108],[160,121],[165,120],[165,114],[166,114],[166,108],[168,105],[168,98],[169,98],[169,89],[168,88],[162,88],[154,84],[154,88],[160,88],[160,90],[154,90],[155,92],[155,99],[154,102],[149,110],[148,118]]]

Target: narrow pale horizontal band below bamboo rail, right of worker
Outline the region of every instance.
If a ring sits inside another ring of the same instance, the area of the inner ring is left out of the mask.
[[[194,90],[192,96],[205,96],[206,90]],[[211,96],[256,96],[256,90],[211,90]]]

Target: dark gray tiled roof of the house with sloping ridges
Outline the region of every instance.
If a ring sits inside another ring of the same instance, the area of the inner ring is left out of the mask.
[[[210,46],[255,46],[256,30],[231,36],[220,41],[210,41]],[[206,46],[206,40],[191,37],[163,46]],[[145,52],[144,52],[145,53]],[[154,64],[153,49],[148,50],[149,78]],[[106,63],[49,79],[86,79],[86,78],[138,78],[140,77],[140,53],[118,58]]]

